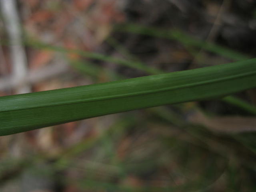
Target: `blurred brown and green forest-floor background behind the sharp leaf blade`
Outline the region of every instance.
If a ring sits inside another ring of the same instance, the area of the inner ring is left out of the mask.
[[[1,0],[0,12],[0,96],[256,56],[254,0]],[[0,191],[256,191],[255,105],[247,90],[2,136]]]

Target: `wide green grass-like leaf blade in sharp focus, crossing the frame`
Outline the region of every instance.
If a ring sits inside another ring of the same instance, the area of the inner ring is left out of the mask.
[[[0,97],[0,135],[256,87],[256,59],[167,74]]]

